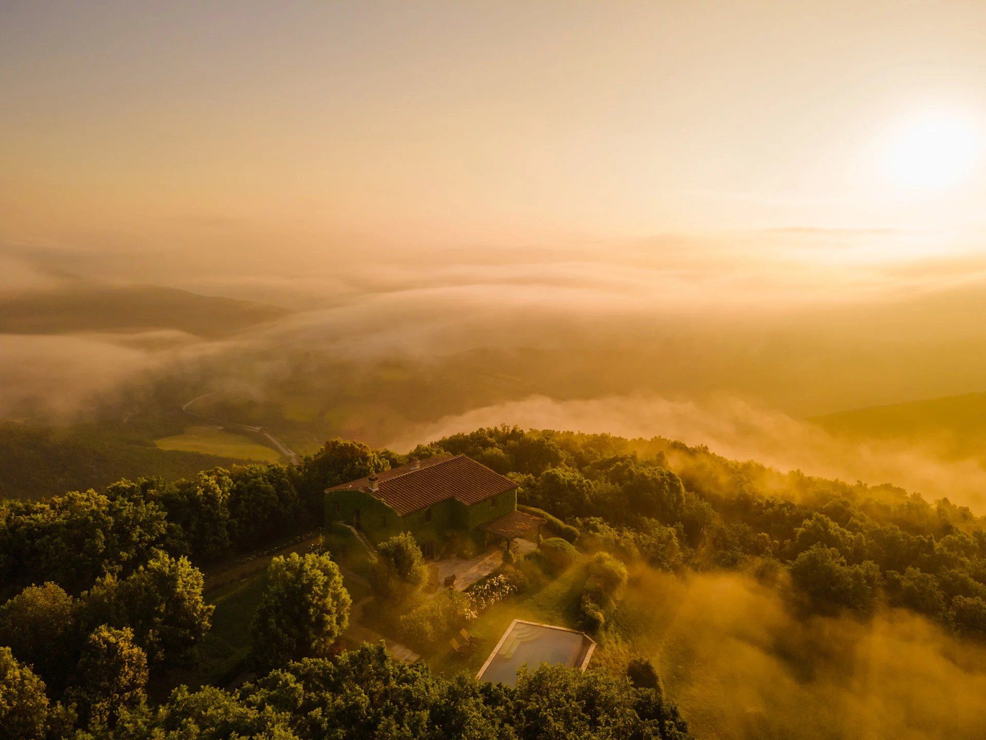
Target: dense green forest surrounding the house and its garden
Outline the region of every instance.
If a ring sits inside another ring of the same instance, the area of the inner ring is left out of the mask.
[[[272,561],[252,628],[255,678],[151,696],[210,629],[201,568],[311,527],[328,485],[437,454],[514,478],[519,501],[548,521],[554,536],[521,561],[505,558],[504,578],[590,558],[577,619],[599,639],[635,565],[750,574],[799,619],[865,622],[900,608],[957,639],[986,637],[984,522],[948,500],[780,473],[662,438],[501,426],[408,455],[332,440],[298,466],[0,501],[0,726],[79,740],[687,737],[643,656],[599,660],[586,674],[543,667],[511,689],[406,666],[379,647],[340,652],[351,599],[330,547]],[[415,547],[383,544],[381,562]],[[384,571],[378,582],[390,586],[417,577]]]

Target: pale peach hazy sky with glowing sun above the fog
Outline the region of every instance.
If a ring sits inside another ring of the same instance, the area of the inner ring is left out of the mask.
[[[0,235],[976,251],[984,38],[975,1],[2,0]]]

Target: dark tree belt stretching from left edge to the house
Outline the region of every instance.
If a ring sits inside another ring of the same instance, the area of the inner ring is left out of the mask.
[[[46,501],[0,500],[0,597],[45,581],[79,594],[158,551],[204,563],[283,535],[302,521],[297,477],[254,465],[168,483],[118,481],[103,493]]]

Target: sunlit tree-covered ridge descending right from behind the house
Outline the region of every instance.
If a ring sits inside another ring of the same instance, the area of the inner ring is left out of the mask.
[[[948,499],[736,462],[656,437],[491,427],[412,455],[466,454],[585,542],[676,568],[790,575],[818,613],[881,602],[986,637],[986,527]]]

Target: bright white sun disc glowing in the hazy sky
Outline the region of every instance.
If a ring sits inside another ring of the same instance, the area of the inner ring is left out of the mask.
[[[979,164],[983,132],[968,115],[928,111],[902,120],[885,152],[887,177],[898,187],[934,192],[959,185]]]

